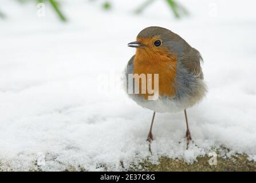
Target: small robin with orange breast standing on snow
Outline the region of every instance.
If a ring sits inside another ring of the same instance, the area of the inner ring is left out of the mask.
[[[125,69],[125,76],[139,75],[139,81],[143,80],[141,74],[145,74],[147,81],[153,82],[148,74],[157,74],[158,91],[157,98],[148,100],[152,93],[141,91],[141,85],[135,82],[127,86],[127,91],[132,87],[139,87],[139,93],[128,93],[137,104],[153,110],[153,117],[148,133],[147,141],[153,140],[152,126],[156,112],[183,111],[186,119],[187,149],[191,138],[188,128],[186,109],[197,104],[205,96],[207,89],[203,80],[203,72],[200,62],[203,60],[199,51],[188,45],[178,34],[163,27],[147,27],[137,35],[137,41],[128,43],[129,47],[136,47],[136,54],[129,60]],[[138,81],[138,79],[137,79]],[[156,88],[155,86],[153,86]]]

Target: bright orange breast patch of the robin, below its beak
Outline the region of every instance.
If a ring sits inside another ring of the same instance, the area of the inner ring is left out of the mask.
[[[153,86],[153,74],[159,74],[159,96],[174,97],[177,56],[170,56],[166,52],[164,49],[162,49],[162,52],[159,52],[159,50],[155,52],[152,50],[137,49],[133,62],[133,73],[152,74],[152,89],[155,88]],[[152,96],[152,94],[148,94],[148,92],[141,94],[141,83],[139,85],[140,95],[144,96],[145,100],[148,100],[148,96]]]

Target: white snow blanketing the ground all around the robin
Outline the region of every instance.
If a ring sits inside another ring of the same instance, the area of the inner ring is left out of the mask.
[[[111,1],[111,11],[102,2],[63,1],[61,23],[49,5],[38,17],[34,3],[2,0],[0,169],[125,170],[147,156],[193,161],[219,146],[256,161],[256,3],[182,0],[190,17],[176,20],[161,0],[141,15],[132,10],[143,0]],[[147,26],[171,29],[204,58],[208,94],[188,109],[188,150],[183,112],[157,113],[151,156],[152,112],[121,87],[135,53],[127,43]]]

